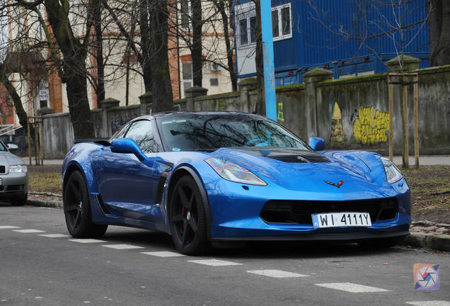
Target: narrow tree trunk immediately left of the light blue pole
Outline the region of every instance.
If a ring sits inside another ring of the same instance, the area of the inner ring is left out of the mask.
[[[265,89],[264,89],[264,56],[262,55],[262,31],[261,31],[261,2],[260,0],[253,0],[255,2],[256,11],[256,80],[258,83],[258,97],[256,100],[255,113],[265,116]]]

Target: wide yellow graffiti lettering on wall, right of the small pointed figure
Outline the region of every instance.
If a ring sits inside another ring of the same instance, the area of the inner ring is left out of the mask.
[[[359,106],[358,118],[353,123],[354,141],[363,145],[374,145],[387,142],[389,132],[389,113],[376,110],[374,107]]]

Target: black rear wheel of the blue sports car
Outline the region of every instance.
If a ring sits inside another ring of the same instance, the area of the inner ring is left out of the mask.
[[[64,216],[69,233],[74,238],[100,238],[108,225],[92,222],[91,202],[83,175],[74,171],[64,188]]]

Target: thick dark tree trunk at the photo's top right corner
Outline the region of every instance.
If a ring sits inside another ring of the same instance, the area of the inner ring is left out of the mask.
[[[429,66],[450,64],[450,1],[427,0]]]

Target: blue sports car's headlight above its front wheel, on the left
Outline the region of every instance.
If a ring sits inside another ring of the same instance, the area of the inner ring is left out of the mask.
[[[267,183],[258,178],[252,171],[239,166],[226,159],[210,158],[205,162],[214,169],[222,178],[236,183],[246,183],[248,185],[266,186]]]

